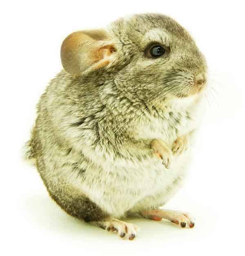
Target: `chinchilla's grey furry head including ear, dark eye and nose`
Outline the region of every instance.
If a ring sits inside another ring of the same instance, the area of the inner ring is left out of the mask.
[[[205,58],[190,34],[161,14],[74,32],[62,43],[61,61],[73,76],[104,77],[127,98],[153,104],[200,94],[207,81]]]

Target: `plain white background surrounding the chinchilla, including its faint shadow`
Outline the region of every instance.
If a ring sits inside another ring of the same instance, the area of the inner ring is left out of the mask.
[[[0,5],[1,255],[244,255],[245,19],[243,1],[4,1]],[[23,163],[35,106],[61,70],[72,31],[104,27],[131,13],[175,18],[209,64],[207,114],[189,179],[167,209],[189,211],[194,229],[131,219],[134,241],[68,216]]]

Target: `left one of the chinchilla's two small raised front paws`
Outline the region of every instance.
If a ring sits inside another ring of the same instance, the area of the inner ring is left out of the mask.
[[[163,165],[169,169],[172,159],[172,152],[169,147],[161,139],[154,139],[151,142],[151,148],[154,153],[163,160]]]

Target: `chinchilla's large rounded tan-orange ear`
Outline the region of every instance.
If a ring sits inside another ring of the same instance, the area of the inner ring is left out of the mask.
[[[77,31],[65,38],[60,50],[64,69],[78,76],[84,71],[109,66],[116,47],[104,30]]]

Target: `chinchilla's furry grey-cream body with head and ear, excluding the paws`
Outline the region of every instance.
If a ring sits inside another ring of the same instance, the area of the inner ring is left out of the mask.
[[[196,77],[207,70],[205,58],[183,27],[160,14],[79,33],[62,45],[65,69],[40,98],[27,157],[51,198],[72,216],[98,221],[162,206],[190,163],[202,117]],[[71,47],[74,62],[66,52]],[[171,151],[187,134],[189,148],[171,153],[166,167],[152,141]]]

